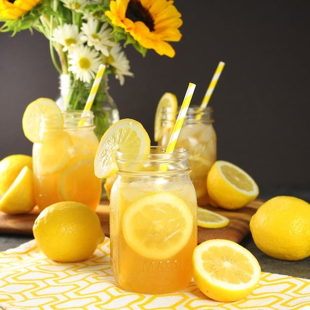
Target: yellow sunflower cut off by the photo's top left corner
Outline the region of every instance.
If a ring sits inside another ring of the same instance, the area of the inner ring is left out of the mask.
[[[41,0],[0,0],[0,16],[6,19],[18,19],[40,2]]]

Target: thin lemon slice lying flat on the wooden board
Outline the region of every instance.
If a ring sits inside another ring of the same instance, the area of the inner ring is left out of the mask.
[[[204,228],[221,228],[229,224],[229,218],[205,208],[198,207],[197,224]]]

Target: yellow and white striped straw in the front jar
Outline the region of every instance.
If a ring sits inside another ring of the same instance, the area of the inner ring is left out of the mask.
[[[193,84],[193,83],[188,84],[188,87],[187,87],[187,90],[186,90],[186,93],[185,93],[185,96],[183,99],[183,103],[181,105],[180,112],[179,112],[179,115],[177,117],[176,124],[174,125],[174,128],[172,130],[172,134],[171,134],[170,139],[169,139],[169,143],[168,143],[168,146],[166,149],[166,154],[172,153],[174,150],[174,147],[176,146],[176,143],[177,143],[183,122],[185,120],[186,112],[188,110],[188,106],[189,106],[189,103],[190,103],[191,98],[193,96],[195,88],[196,88],[195,84]]]

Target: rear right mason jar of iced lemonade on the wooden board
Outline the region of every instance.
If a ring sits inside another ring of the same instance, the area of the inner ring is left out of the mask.
[[[165,129],[158,145],[167,146],[177,115],[163,108],[162,126]],[[210,203],[207,175],[217,160],[217,135],[213,127],[213,109],[192,105],[188,108],[176,146],[188,149],[190,178],[194,184],[198,205]]]

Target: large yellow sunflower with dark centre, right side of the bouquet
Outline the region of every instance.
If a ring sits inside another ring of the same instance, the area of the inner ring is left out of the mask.
[[[105,15],[143,47],[159,55],[175,56],[167,41],[180,41],[182,20],[173,0],[112,0]]]

